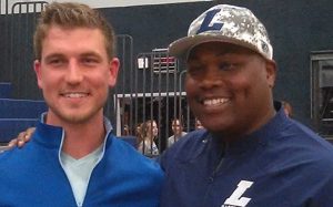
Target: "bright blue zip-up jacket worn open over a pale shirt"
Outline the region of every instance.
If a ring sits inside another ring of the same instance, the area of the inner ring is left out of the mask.
[[[77,206],[59,153],[63,131],[39,123],[31,142],[0,154],[0,206]],[[163,173],[110,132],[92,170],[83,206],[158,207]]]

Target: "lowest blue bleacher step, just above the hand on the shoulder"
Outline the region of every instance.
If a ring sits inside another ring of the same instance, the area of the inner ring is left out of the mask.
[[[0,143],[8,143],[20,132],[36,126],[38,118],[0,118]]]

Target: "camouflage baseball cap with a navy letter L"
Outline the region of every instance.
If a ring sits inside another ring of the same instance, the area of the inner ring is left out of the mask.
[[[170,55],[188,55],[204,42],[229,42],[251,49],[272,60],[273,48],[264,25],[246,8],[219,4],[199,15],[190,25],[188,37],[169,45]]]

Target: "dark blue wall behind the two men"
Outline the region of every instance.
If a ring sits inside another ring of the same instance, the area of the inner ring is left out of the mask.
[[[291,102],[295,118],[310,125],[310,53],[333,50],[332,0],[224,0],[108,8],[101,11],[112,22],[118,34],[133,37],[137,56],[138,53],[151,52],[155,48],[167,48],[173,40],[184,37],[190,22],[218,3],[248,7],[266,25],[279,65],[275,99]],[[1,15],[1,28],[10,24],[9,21],[10,18]],[[20,29],[17,32],[20,33]],[[0,32],[1,53],[7,52],[9,43],[3,41],[3,38],[8,38],[3,35],[8,35],[7,32]],[[31,56],[31,53],[32,44],[11,55],[20,62],[20,58]],[[16,66],[16,72],[9,72],[3,59],[2,55],[0,70],[3,75],[0,75],[0,82],[13,82],[16,97],[40,99],[31,70],[32,60],[30,64]]]

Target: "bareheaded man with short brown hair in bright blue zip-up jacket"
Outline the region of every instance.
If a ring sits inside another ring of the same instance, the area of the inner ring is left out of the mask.
[[[34,52],[49,110],[29,145],[0,155],[0,206],[158,206],[159,165],[115,138],[103,117],[119,70],[111,25],[84,4],[53,2]]]

